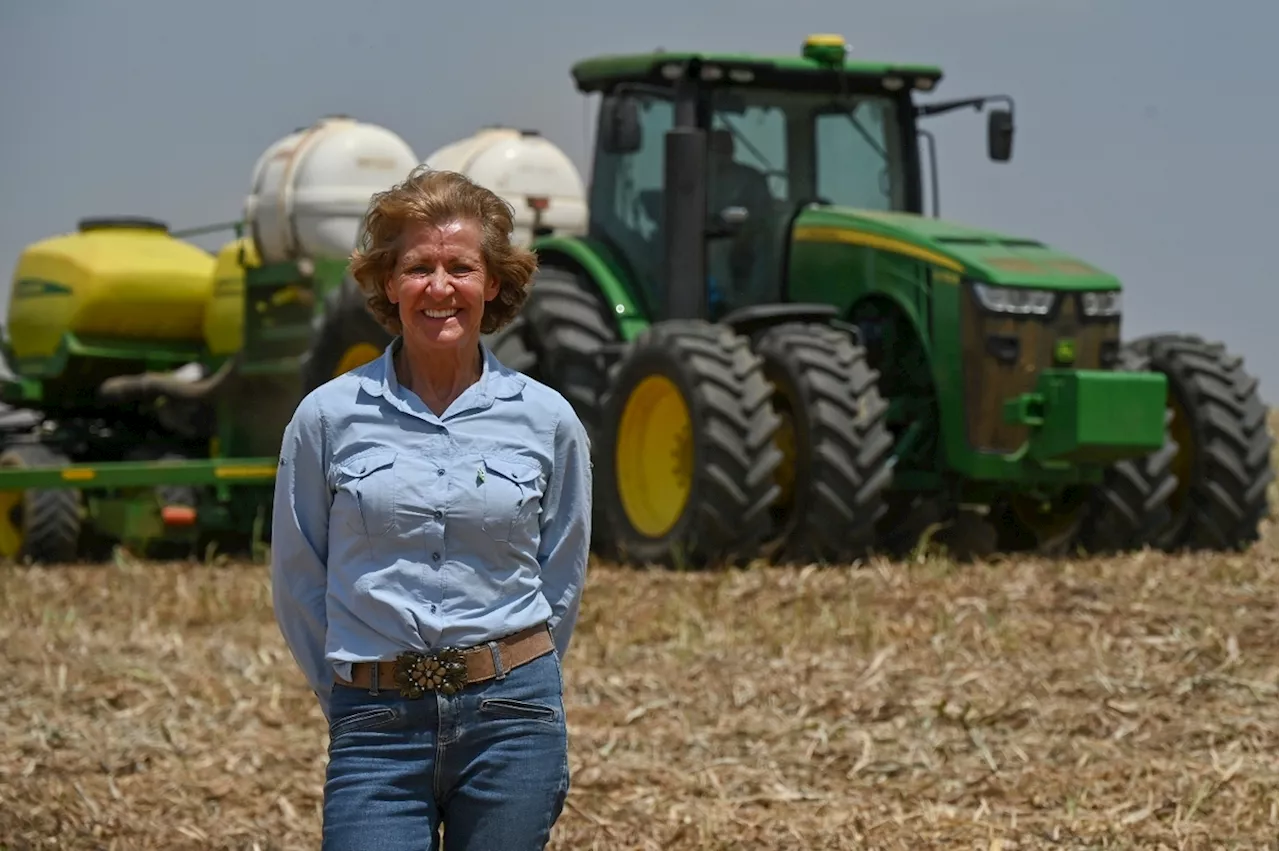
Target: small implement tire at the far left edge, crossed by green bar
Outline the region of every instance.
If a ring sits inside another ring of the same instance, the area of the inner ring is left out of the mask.
[[[0,467],[58,467],[70,459],[38,443],[12,444],[0,453]],[[35,564],[65,564],[79,555],[81,494],[72,488],[27,489],[5,500],[20,508],[17,535],[4,535],[4,555]],[[5,525],[10,525],[5,518]]]

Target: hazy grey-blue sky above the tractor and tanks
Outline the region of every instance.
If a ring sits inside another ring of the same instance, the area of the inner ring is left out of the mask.
[[[1120,275],[1126,334],[1226,339],[1277,402],[1277,31],[1262,0],[0,0],[0,262],[8,288],[24,244],[86,215],[234,219],[259,154],[332,113],[424,157],[534,127],[585,173],[575,59],[840,32],[942,65],[940,99],[1016,99],[1009,164],[986,159],[982,115],[932,120],[945,218]]]

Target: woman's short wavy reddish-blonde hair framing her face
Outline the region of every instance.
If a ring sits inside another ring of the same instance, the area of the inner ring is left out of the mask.
[[[387,298],[399,260],[401,235],[411,221],[444,224],[470,219],[480,224],[485,270],[498,282],[498,294],[485,302],[480,333],[492,334],[520,314],[538,270],[538,256],[511,242],[512,206],[457,171],[420,166],[408,178],[376,193],[365,214],[360,242],[351,255],[351,275],[365,293],[370,312],[392,334],[403,328],[399,311]]]

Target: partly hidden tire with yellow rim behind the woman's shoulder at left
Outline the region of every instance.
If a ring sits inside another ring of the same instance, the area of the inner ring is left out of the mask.
[[[353,278],[344,278],[325,299],[311,348],[302,358],[302,394],[381,357],[392,334],[369,311]]]

